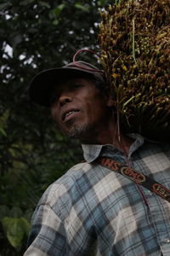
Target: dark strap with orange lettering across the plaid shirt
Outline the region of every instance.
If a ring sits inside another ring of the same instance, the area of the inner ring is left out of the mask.
[[[124,177],[133,180],[135,183],[141,184],[144,188],[149,189],[151,192],[154,192],[156,195],[159,195],[164,200],[170,202],[170,189],[157,183],[154,179],[135,171],[132,167],[124,166],[107,157],[99,157],[97,162],[100,166],[105,166],[106,168],[111,169],[111,171],[121,173]]]

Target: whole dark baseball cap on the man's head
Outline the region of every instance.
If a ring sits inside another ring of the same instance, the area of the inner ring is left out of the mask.
[[[85,61],[73,61],[64,67],[44,70],[31,80],[29,94],[31,100],[39,105],[50,107],[50,96],[54,86],[67,79],[87,76],[105,81],[104,72]]]

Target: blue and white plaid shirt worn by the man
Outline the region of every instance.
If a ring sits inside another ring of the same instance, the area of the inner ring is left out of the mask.
[[[126,158],[112,145],[83,145],[86,163],[73,166],[42,195],[25,256],[169,256],[170,204],[94,160]],[[169,144],[137,136],[132,166],[170,188]]]

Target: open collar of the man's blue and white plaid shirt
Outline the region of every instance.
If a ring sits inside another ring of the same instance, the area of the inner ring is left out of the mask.
[[[129,149],[129,155],[130,157],[134,151],[136,151],[140,146],[143,145],[144,143],[144,137],[142,137],[139,134],[136,133],[130,133],[127,136],[132,137],[134,139],[134,142],[130,146]],[[94,145],[94,144],[82,144],[82,150],[83,150],[83,156],[84,159],[88,162],[91,163],[94,160],[96,160],[99,157],[99,154],[104,147],[111,147],[111,148],[116,148],[113,145]]]

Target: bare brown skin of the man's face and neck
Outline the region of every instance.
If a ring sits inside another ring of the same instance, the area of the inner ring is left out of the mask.
[[[52,116],[66,135],[86,144],[114,144],[128,153],[132,141],[118,136],[114,102],[96,89],[90,79],[71,79],[57,85],[53,94]]]

